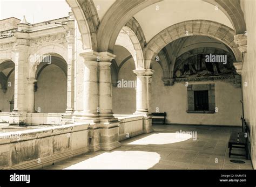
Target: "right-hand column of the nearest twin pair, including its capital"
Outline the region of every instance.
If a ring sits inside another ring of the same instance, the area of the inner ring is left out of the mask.
[[[111,61],[115,55],[102,52],[99,53],[99,116],[101,119],[110,119],[112,112],[112,83],[111,83]]]

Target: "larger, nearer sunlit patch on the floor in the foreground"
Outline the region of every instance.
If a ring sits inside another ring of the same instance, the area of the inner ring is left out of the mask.
[[[114,151],[100,154],[65,169],[149,169],[159,160],[160,155],[154,152]]]

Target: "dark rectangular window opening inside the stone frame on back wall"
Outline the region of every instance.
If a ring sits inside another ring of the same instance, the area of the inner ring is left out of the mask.
[[[196,111],[209,110],[208,90],[194,91],[194,110]]]

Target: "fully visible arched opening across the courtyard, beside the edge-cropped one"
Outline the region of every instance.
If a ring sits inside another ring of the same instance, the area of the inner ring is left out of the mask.
[[[37,112],[64,113],[67,102],[68,64],[56,53],[42,53],[44,59],[34,64],[35,108]],[[51,59],[48,59],[51,55]],[[51,61],[49,61],[51,60]],[[38,110],[39,109],[39,110]]]

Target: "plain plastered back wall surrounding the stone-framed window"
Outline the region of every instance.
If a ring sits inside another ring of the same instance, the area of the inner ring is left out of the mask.
[[[215,84],[215,113],[187,113],[187,87],[185,83],[164,86],[159,64],[153,65],[155,71],[152,79],[152,111],[167,113],[170,124],[203,124],[203,125],[241,125],[242,115],[241,89],[232,83],[221,81],[192,82],[189,84]]]

